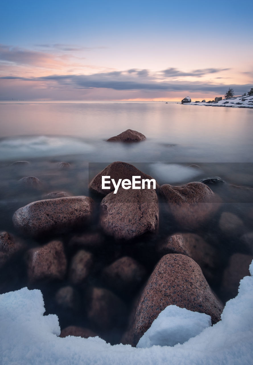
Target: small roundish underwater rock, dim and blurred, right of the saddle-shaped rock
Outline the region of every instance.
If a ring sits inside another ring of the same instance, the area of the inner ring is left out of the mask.
[[[230,212],[223,212],[221,214],[219,227],[222,233],[227,236],[238,236],[245,230],[242,220],[237,215]]]

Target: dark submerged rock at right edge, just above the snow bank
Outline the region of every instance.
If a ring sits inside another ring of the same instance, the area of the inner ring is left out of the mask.
[[[250,276],[249,265],[252,260],[253,256],[241,253],[233,254],[230,257],[228,266],[224,270],[221,284],[221,295],[225,301],[234,298],[238,293],[240,280],[244,276]]]

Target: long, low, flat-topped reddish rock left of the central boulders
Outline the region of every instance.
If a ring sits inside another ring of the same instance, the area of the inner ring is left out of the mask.
[[[71,196],[33,201],[13,215],[16,228],[27,235],[63,233],[91,218],[93,200],[87,196]]]

